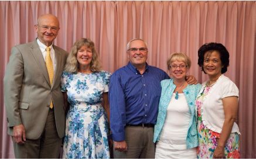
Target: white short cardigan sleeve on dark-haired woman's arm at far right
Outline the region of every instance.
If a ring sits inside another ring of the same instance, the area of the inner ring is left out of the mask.
[[[229,97],[229,96],[237,96],[239,97],[239,90],[237,88],[237,86],[234,84],[234,82],[232,81],[227,81],[225,83],[225,86],[223,88],[223,95],[222,95],[222,98],[226,98],[226,97]]]

